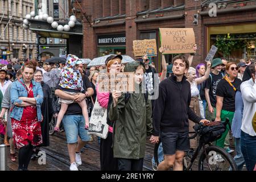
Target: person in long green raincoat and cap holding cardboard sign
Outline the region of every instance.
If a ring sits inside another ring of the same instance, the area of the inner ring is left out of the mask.
[[[152,133],[151,101],[142,93],[145,68],[138,61],[128,63],[125,72],[135,72],[137,93],[114,91],[109,119],[114,122],[114,158],[119,171],[142,171],[146,150],[146,137]]]

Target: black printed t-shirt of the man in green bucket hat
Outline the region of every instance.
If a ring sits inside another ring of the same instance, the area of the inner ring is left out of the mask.
[[[216,107],[216,90],[218,82],[221,81],[223,77],[223,73],[218,73],[215,75],[214,73],[210,73],[209,78],[205,82],[205,88],[209,89],[209,97],[210,97],[210,104],[213,107]]]

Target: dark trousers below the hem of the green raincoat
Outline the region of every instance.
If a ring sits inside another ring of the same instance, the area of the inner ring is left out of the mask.
[[[141,159],[123,159],[117,158],[119,171],[142,171],[143,158]]]

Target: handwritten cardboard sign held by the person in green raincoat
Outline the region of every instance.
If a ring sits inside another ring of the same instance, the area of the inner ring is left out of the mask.
[[[98,76],[98,90],[100,92],[134,92],[134,72],[101,73]]]

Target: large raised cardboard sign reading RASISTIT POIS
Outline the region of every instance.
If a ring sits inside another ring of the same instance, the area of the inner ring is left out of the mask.
[[[161,47],[164,54],[195,53],[195,33],[193,28],[159,28]]]

